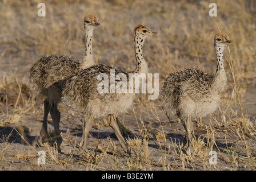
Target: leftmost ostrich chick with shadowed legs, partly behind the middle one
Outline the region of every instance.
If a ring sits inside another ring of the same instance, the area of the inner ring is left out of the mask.
[[[66,55],[43,56],[35,61],[28,72],[29,86],[37,94],[47,98],[43,102],[44,114],[43,125],[40,131],[39,143],[47,141],[47,117],[50,112],[53,118],[55,135],[57,136],[58,147],[62,142],[59,138],[59,120],[61,113],[58,111],[58,103],[61,101],[61,90],[50,90],[50,86],[60,80],[64,80],[75,72],[85,69],[94,64],[92,52],[92,36],[95,27],[99,26],[98,19],[93,15],[86,15],[83,22],[85,28],[85,55],[82,63]],[[54,92],[54,93],[51,93]],[[49,97],[49,96],[53,97]],[[58,122],[57,122],[58,121]]]

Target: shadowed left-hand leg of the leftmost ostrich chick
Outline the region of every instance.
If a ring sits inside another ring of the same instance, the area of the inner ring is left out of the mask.
[[[43,125],[42,128],[40,130],[40,137],[39,137],[39,144],[43,144],[44,142],[47,142],[47,118],[48,118],[48,114],[50,112],[50,102],[49,102],[49,98],[46,98],[45,101],[43,101]]]

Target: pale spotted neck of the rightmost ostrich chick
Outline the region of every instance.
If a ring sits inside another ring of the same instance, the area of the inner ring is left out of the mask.
[[[217,92],[223,91],[224,86],[226,85],[226,81],[227,81],[224,64],[223,64],[224,48],[225,48],[225,46],[215,45],[217,69],[216,69],[216,73],[215,73],[214,89]]]

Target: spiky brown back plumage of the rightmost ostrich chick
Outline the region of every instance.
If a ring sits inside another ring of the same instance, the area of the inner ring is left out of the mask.
[[[165,78],[162,85],[161,99],[163,104],[177,109],[184,92],[191,100],[198,102],[200,97],[211,94],[213,81],[214,75],[197,68],[171,73]]]

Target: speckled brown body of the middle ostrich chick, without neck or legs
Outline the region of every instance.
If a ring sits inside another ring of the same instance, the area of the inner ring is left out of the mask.
[[[97,80],[97,76],[101,73],[106,73],[110,78],[110,69],[115,69],[115,76],[118,73],[123,73],[128,78],[128,73],[122,69],[103,64],[94,65],[71,75],[63,82],[57,83],[57,86],[62,88],[63,103],[78,113],[88,114],[88,112],[91,112],[95,117],[118,114],[129,109],[134,94],[99,93],[97,90],[98,84],[102,81]],[[115,84],[118,82],[115,81]]]

